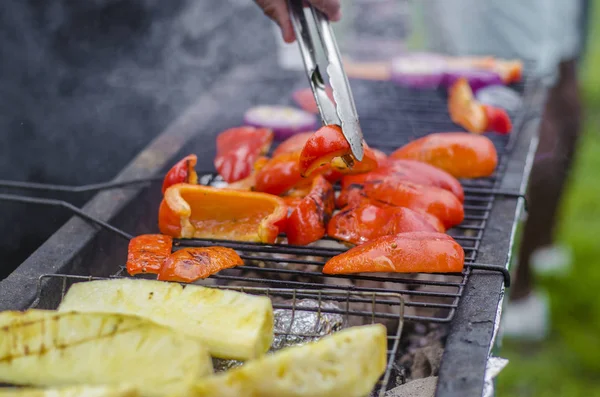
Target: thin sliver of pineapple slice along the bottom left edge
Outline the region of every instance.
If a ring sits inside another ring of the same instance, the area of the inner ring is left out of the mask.
[[[51,389],[3,389],[0,397],[140,397],[130,386],[70,386]]]

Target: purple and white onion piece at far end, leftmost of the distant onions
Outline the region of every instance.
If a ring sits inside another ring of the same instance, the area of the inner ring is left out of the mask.
[[[415,53],[392,61],[392,81],[411,88],[437,88],[442,84],[446,61],[440,55]]]

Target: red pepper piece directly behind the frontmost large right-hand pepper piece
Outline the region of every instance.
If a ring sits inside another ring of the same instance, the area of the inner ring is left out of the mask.
[[[379,207],[364,204],[335,214],[327,235],[352,244],[362,244],[381,236],[405,232],[437,232],[419,213],[404,207]]]

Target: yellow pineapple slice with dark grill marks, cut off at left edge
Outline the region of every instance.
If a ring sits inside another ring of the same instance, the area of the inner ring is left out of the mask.
[[[0,313],[0,383],[135,386],[145,396],[186,394],[212,373],[201,343],[122,314]]]

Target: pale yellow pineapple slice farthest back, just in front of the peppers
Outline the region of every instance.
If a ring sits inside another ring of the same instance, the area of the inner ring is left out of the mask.
[[[59,311],[135,314],[199,338],[213,357],[249,360],[273,342],[273,306],[265,296],[142,279],[74,284]]]

